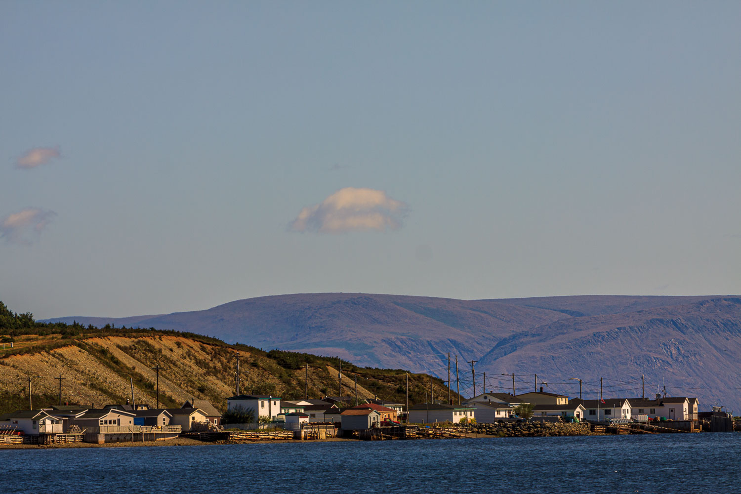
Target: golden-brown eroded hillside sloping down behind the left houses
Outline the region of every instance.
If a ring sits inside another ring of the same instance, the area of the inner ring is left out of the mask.
[[[309,398],[339,392],[337,358],[265,351],[228,345],[215,338],[151,330],[78,326],[80,333],[70,337],[70,328],[66,328],[67,334],[49,333],[59,330],[59,326],[30,324],[25,330],[0,327],[0,335],[5,335],[0,339],[14,342],[13,349],[9,343],[0,349],[0,413],[28,407],[29,375],[41,376],[32,381],[34,407],[59,403],[59,375],[64,378],[63,402],[95,407],[125,403],[131,397],[133,380],[136,402],[154,406],[156,372],[152,367],[158,364],[163,406],[179,407],[195,397],[207,399],[223,411],[226,398],[235,393],[236,351],[240,356],[242,393],[303,398],[306,364]],[[357,377],[359,398],[378,396],[400,402],[406,399],[403,370],[362,368],[342,361],[342,375],[342,395],[354,396]],[[410,403],[423,403],[430,390],[430,376],[410,375],[409,387]],[[447,388],[436,378],[433,392],[437,398],[448,395]]]

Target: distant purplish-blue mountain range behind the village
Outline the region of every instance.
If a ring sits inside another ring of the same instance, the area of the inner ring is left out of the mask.
[[[208,310],[130,318],[49,321],[175,329],[279,348],[342,356],[360,365],[431,371],[447,378],[459,356],[461,393],[548,390],[585,398],[698,396],[702,409],[741,412],[740,296],[568,296],[463,301],[451,298],[314,293],[248,298]],[[453,373],[453,388],[456,383]],[[732,388],[732,389],[728,389]]]

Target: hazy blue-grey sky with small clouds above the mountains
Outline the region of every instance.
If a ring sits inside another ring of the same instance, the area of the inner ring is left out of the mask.
[[[741,293],[738,1],[0,3],[0,300]]]

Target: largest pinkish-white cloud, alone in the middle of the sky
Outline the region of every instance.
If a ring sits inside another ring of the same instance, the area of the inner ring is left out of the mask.
[[[345,187],[319,204],[307,206],[290,224],[296,232],[342,233],[350,230],[397,230],[408,211],[384,190]]]

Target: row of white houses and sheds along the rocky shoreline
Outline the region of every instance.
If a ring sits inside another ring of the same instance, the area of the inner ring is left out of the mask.
[[[464,437],[471,433],[589,435],[722,432],[735,429],[721,407],[699,412],[694,397],[569,398],[537,391],[486,392],[456,402],[396,403],[352,396],[283,400],[234,395],[226,413],[209,401],[179,408],[148,404],[62,404],[0,416],[0,446],[85,442],[147,443],[186,437],[200,441],[411,439]],[[243,422],[235,422],[242,419]]]

